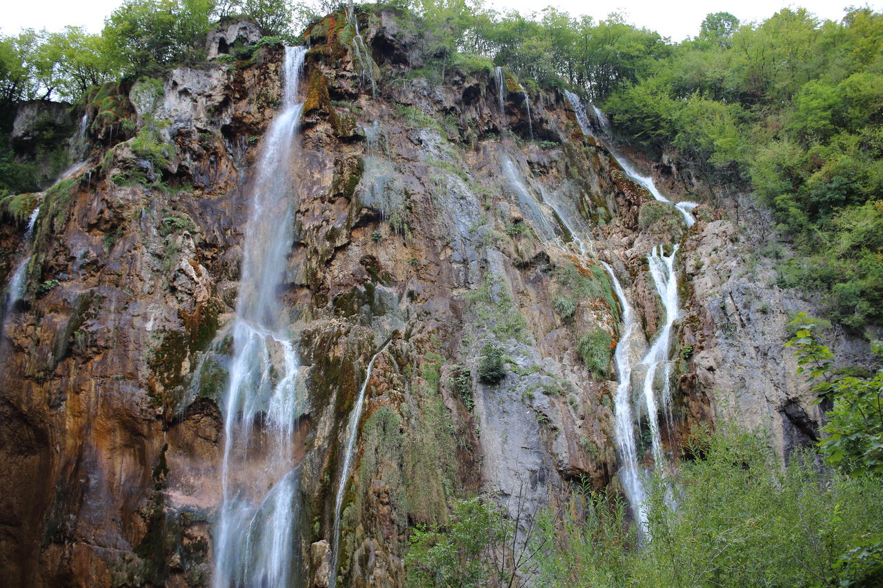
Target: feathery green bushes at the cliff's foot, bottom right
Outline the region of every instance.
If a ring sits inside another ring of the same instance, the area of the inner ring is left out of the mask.
[[[877,585],[883,479],[820,471],[799,454],[783,465],[765,438],[729,423],[691,445],[701,458],[653,484],[643,530],[652,539],[640,547],[613,494],[575,494],[543,517],[554,547],[536,584]]]

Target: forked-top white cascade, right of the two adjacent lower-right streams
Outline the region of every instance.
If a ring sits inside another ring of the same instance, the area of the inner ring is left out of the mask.
[[[675,276],[675,253],[677,253],[677,248],[678,245],[675,245],[672,248],[671,255],[666,257],[665,253],[662,252],[662,245],[657,245],[653,247],[653,253],[647,256],[647,261],[650,264],[650,275],[653,277],[653,284],[656,286],[656,292],[660,296],[666,314],[665,323],[657,331],[653,344],[647,350],[641,362],[646,366],[643,386],[644,401],[647,407],[647,420],[650,422],[650,431],[653,435],[653,460],[657,467],[664,463],[665,457],[662,453],[660,426],[657,418],[659,409],[656,404],[653,381],[656,379],[656,372],[659,366],[663,363],[666,364],[666,381],[663,384],[660,398],[668,415],[670,413],[668,410],[668,348],[671,346],[671,328],[675,324],[679,313],[677,278]]]

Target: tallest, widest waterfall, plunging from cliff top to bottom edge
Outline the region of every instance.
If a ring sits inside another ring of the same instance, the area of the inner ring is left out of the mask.
[[[291,162],[303,102],[306,48],[285,48],[282,110],[262,141],[248,186],[241,279],[224,406],[223,503],[215,530],[215,587],[290,586],[295,549],[294,426],[298,358],[277,288],[293,230]]]

